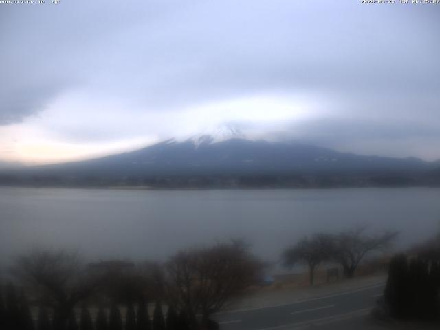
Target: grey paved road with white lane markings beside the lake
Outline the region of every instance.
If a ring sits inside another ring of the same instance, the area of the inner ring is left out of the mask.
[[[312,298],[286,305],[216,314],[221,330],[283,330],[366,313],[382,295],[384,284]]]

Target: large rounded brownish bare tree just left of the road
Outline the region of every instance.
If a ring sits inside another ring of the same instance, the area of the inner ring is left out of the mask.
[[[166,265],[168,298],[193,325],[197,313],[206,323],[210,314],[255,282],[261,267],[238,241],[179,252]]]

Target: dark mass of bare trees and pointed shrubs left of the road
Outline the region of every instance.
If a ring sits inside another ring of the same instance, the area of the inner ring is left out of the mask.
[[[12,267],[15,285],[0,286],[0,329],[218,329],[212,313],[254,285],[262,267],[241,241],[184,250],[164,264],[86,264],[34,251]]]

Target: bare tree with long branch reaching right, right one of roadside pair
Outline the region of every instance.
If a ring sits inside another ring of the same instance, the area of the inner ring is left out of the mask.
[[[347,278],[353,278],[355,270],[366,254],[389,248],[398,234],[387,231],[369,236],[365,231],[366,226],[362,226],[341,232],[333,239],[331,257],[342,265],[344,276]]]

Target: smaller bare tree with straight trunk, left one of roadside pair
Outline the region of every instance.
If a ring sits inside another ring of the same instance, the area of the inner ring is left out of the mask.
[[[297,263],[306,264],[309,267],[310,285],[314,285],[316,266],[329,259],[331,241],[331,236],[327,234],[305,237],[283,252],[283,263],[286,267],[293,267]]]

